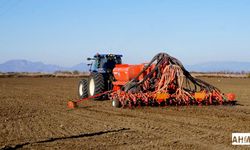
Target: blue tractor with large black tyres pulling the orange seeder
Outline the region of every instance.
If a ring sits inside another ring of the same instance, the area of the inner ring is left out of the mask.
[[[116,64],[122,64],[122,55],[115,54],[96,54],[89,66],[90,76],[88,79],[82,79],[78,85],[79,97],[86,98],[101,94],[113,88],[112,82],[115,80],[113,69]],[[96,100],[104,99],[103,96],[95,98]]]

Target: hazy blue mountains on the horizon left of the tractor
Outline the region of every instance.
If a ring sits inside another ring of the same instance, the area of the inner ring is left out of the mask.
[[[77,64],[72,67],[62,67],[58,65],[44,64],[42,62],[32,62],[28,60],[9,60],[0,64],[0,72],[46,72],[55,71],[80,71],[88,70],[88,66],[84,63]]]

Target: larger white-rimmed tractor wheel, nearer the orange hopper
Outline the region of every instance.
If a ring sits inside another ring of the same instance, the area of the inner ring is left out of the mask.
[[[104,77],[100,73],[91,73],[88,81],[88,95],[94,96],[105,91]],[[93,98],[94,100],[101,100],[103,96]]]

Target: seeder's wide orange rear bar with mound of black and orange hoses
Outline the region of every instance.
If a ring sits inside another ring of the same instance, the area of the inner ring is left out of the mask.
[[[151,68],[150,72],[147,70]],[[141,74],[147,74],[138,80]],[[157,54],[151,62],[121,90],[109,94],[121,106],[159,105],[218,105],[235,104],[234,94],[221,91],[200,79],[194,78],[176,58]]]

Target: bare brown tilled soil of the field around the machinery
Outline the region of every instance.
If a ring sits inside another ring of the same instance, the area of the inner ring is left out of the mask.
[[[232,132],[250,132],[250,79],[205,78],[238,95],[238,106],[117,109],[76,99],[74,78],[0,79],[0,148],[230,149]]]

